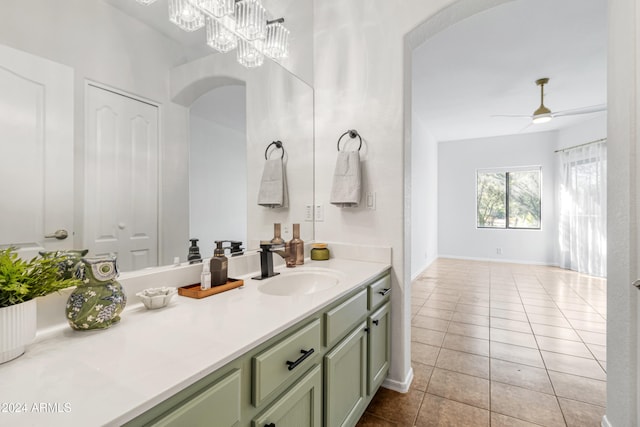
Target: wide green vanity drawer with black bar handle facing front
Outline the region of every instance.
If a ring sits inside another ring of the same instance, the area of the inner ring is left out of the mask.
[[[284,338],[252,358],[251,401],[259,406],[285,381],[300,376],[320,353],[320,320]]]

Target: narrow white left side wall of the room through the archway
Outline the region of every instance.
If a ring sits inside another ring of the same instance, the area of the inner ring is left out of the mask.
[[[438,142],[413,112],[411,129],[411,278],[438,257]]]

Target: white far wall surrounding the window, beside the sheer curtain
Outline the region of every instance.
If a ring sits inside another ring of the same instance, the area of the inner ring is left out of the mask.
[[[438,251],[441,257],[553,264],[554,132],[441,142],[438,146]],[[476,227],[476,171],[542,167],[540,230]],[[502,255],[497,254],[502,249]]]

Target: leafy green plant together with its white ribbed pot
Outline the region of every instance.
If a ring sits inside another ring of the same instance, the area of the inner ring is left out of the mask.
[[[65,278],[68,261],[65,252],[49,252],[25,261],[14,248],[0,251],[0,363],[23,354],[35,338],[35,298],[80,283]]]

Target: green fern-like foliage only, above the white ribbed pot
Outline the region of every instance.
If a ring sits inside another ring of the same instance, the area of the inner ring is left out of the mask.
[[[63,278],[64,261],[61,253],[24,261],[13,248],[0,251],[0,308],[78,285],[77,279]]]

